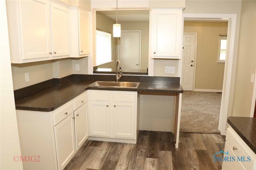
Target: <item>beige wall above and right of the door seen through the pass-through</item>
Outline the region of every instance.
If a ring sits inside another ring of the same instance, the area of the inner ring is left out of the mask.
[[[120,22],[122,30],[141,30],[141,69],[148,68],[149,22]]]

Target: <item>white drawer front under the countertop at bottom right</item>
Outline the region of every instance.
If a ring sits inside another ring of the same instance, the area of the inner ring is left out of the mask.
[[[231,127],[228,127],[227,129],[226,142],[236,156],[238,156],[240,159],[241,157],[244,158],[244,160],[240,162],[245,169],[252,170],[256,168],[254,165],[256,163],[255,153],[248,147],[248,145],[246,145],[242,138],[237,135],[237,133]],[[233,149],[233,147],[236,147],[237,149]],[[246,161],[248,160],[248,156],[250,156],[249,162]]]

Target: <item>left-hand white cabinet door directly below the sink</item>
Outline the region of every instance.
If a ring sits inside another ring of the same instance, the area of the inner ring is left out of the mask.
[[[90,135],[110,137],[109,102],[89,101]]]

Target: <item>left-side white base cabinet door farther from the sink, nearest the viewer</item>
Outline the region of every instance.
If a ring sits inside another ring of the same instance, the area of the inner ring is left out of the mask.
[[[54,126],[58,170],[62,170],[76,153],[74,115]]]

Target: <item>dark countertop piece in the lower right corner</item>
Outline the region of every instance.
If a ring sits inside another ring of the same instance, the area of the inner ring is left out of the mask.
[[[228,117],[228,124],[256,153],[256,118],[254,117]]]

